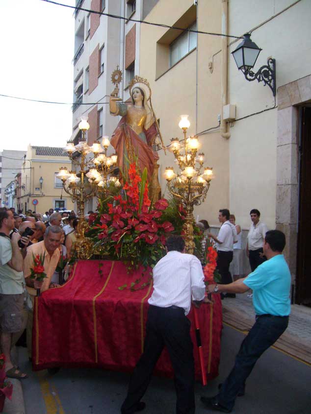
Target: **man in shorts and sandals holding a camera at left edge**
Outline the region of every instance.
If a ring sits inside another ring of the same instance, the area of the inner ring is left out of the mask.
[[[0,211],[0,346],[5,356],[6,375],[24,379],[27,375],[11,361],[12,334],[23,327],[24,286],[23,254],[29,239],[10,231],[14,217],[10,210]],[[22,243],[22,250],[19,246]]]

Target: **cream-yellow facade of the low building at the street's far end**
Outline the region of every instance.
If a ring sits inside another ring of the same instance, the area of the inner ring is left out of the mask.
[[[31,161],[31,164],[29,161]],[[31,173],[29,166],[31,165]],[[61,189],[54,187],[54,173],[59,170],[60,167],[71,168],[71,162],[68,157],[55,157],[55,156],[43,156],[35,155],[35,149],[31,146],[27,148],[25,170],[22,170],[21,184],[25,185],[25,190],[21,190],[20,202],[23,203],[23,210],[25,208],[25,202],[27,203],[27,209],[35,210],[32,204],[33,199],[37,199],[39,203],[36,206],[36,211],[44,213],[50,208],[55,207],[55,200],[60,199]],[[30,183],[31,175],[31,183]],[[43,178],[42,192],[36,190],[40,189],[39,179]],[[67,210],[72,210],[74,204],[69,197],[66,197],[66,193],[62,192],[62,199],[65,201],[65,207]]]

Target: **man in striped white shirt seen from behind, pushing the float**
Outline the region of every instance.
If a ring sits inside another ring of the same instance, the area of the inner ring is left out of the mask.
[[[147,390],[151,376],[164,346],[167,347],[175,372],[177,414],[193,414],[194,359],[190,338],[190,320],[186,315],[194,301],[205,295],[202,266],[195,256],[185,254],[181,236],[169,236],[167,255],[153,269],[154,292],[148,300],[150,307],[146,324],[144,352],[134,368],[122,414],[142,411],[146,404],[140,401]]]

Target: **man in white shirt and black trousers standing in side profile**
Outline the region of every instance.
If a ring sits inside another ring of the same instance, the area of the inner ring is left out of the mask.
[[[221,284],[229,284],[232,282],[231,273],[229,271],[230,263],[233,259],[233,244],[237,242],[235,226],[230,222],[230,211],[226,208],[219,210],[218,220],[221,224],[219,233],[214,236],[208,233],[217,243],[217,269],[221,276]],[[234,293],[227,293],[222,297],[235,297]]]

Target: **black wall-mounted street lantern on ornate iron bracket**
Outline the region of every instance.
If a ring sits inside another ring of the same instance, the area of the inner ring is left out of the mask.
[[[258,82],[263,81],[271,89],[273,96],[276,95],[276,72],[275,59],[269,58],[267,65],[261,66],[257,73],[252,71],[260,49],[256,43],[251,40],[249,33],[244,34],[243,41],[232,52],[238,70],[244,73],[245,79],[252,81],[257,79]]]

